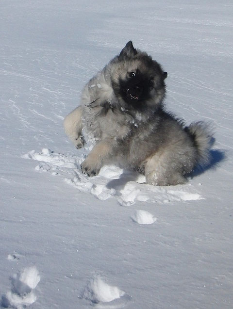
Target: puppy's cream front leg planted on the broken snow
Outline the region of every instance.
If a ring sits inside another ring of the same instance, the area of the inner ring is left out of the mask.
[[[94,146],[81,164],[83,174],[87,174],[88,176],[98,175],[101,166],[112,156],[113,146],[111,141],[102,141]]]

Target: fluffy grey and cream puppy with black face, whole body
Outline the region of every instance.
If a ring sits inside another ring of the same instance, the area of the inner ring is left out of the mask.
[[[95,146],[81,164],[98,175],[104,164],[133,168],[152,185],[182,184],[209,161],[211,133],[203,122],[184,126],[164,109],[167,73],[131,41],[85,86],[81,105],[68,114],[65,131],[77,148],[82,129]]]

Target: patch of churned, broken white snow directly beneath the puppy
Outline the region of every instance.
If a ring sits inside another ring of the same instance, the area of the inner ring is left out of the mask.
[[[167,203],[201,199],[191,184],[159,187],[145,184],[145,177],[116,166],[103,166],[100,174],[87,177],[82,174],[80,164],[85,159],[84,150],[79,156],[55,153],[48,148],[42,152],[32,150],[22,158],[39,161],[36,171],[60,175],[81,192],[95,195],[100,200],[115,197],[120,205],[131,206],[136,201]]]

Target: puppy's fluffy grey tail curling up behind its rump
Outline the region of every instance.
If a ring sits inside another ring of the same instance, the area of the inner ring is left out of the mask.
[[[209,123],[202,121],[193,122],[186,130],[192,136],[194,145],[198,150],[198,164],[201,166],[210,163],[210,148],[214,143],[213,129]]]

